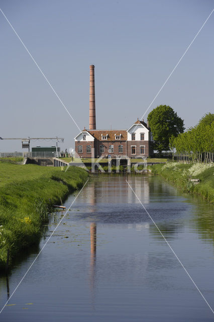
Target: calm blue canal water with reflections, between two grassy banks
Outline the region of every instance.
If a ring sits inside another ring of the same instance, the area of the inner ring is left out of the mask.
[[[95,175],[0,314],[1,321],[211,321],[213,206],[160,177]],[[46,227],[40,248],[65,212]],[[0,279],[4,306],[38,250]]]

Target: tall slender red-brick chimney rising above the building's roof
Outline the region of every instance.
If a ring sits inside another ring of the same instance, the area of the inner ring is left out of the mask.
[[[94,86],[94,65],[90,65],[90,82],[89,82],[89,130],[96,129],[95,113],[95,86]]]

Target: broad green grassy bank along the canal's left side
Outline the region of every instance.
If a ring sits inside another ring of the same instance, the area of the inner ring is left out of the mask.
[[[52,204],[82,187],[88,174],[70,167],[0,163],[0,271],[6,269],[8,250],[11,266],[24,249],[39,243],[42,225],[48,221]]]

